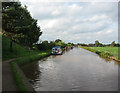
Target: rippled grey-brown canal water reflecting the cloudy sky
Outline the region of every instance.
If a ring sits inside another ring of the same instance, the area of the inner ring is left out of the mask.
[[[21,68],[36,91],[118,90],[118,65],[81,48]]]

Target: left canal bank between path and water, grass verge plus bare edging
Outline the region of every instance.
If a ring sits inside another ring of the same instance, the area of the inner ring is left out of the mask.
[[[25,76],[25,74],[23,73],[23,71],[20,69],[19,66],[27,64],[27,63],[35,61],[35,60],[39,60],[39,59],[48,57],[50,55],[51,55],[51,52],[47,52],[47,53],[42,53],[42,54],[38,54],[35,56],[23,57],[23,58],[16,59],[16,60],[10,62],[11,70],[12,70],[12,74],[13,74],[13,78],[14,78],[14,83],[17,87],[17,91],[29,91],[30,93],[35,92],[32,85],[29,83],[27,77]],[[24,62],[24,60],[25,60],[25,62]]]

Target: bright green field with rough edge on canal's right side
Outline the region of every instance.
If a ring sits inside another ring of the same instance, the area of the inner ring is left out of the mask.
[[[81,48],[94,52],[102,57],[120,61],[118,47],[81,47]]]

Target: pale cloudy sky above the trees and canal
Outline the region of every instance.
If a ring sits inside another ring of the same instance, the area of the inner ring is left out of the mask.
[[[118,42],[117,2],[37,2],[20,0],[43,31],[40,40],[108,44]]]

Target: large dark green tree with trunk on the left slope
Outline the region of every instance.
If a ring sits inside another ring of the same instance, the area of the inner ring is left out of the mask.
[[[2,2],[2,33],[10,38],[10,51],[14,41],[32,47],[42,35],[37,20],[20,2]]]

